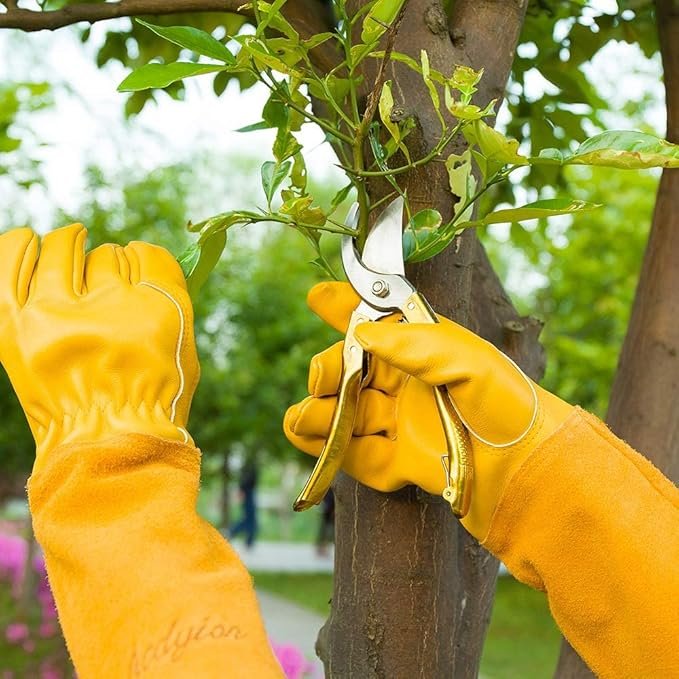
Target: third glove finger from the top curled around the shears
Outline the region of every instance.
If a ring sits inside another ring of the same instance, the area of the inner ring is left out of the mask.
[[[327,438],[330,432],[337,398],[327,396],[304,399],[288,409],[283,426],[293,434],[307,437]],[[354,436],[372,436],[384,434],[393,437],[396,434],[396,401],[374,389],[364,389],[358,402]]]

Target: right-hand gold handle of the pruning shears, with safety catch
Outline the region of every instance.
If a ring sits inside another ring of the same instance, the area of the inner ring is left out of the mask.
[[[403,305],[403,315],[409,323],[438,323],[436,314],[427,300],[419,293],[413,293]],[[455,410],[448,389],[434,387],[434,398],[448,449],[448,486],[443,491],[444,499],[450,504],[455,516],[462,518],[469,511],[471,502],[472,446],[469,433]]]

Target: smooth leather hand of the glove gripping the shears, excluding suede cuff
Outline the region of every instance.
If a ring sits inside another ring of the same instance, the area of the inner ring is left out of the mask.
[[[308,302],[344,332],[359,299],[347,283],[321,283]],[[375,360],[344,470],[380,491],[413,483],[441,494],[446,447],[432,386],[447,385],[471,433],[474,458],[471,507],[462,523],[483,540],[512,476],[573,408],[531,382],[490,343],[444,318],[437,325],[365,323],[356,338]],[[288,439],[314,456],[330,429],[341,369],[339,342],[312,359],[310,396],[285,416]]]

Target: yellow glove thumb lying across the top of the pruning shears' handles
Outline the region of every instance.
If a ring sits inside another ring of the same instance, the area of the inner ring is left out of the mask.
[[[436,324],[362,323],[356,339],[366,351],[432,386],[480,377],[497,354],[488,342],[447,319]]]

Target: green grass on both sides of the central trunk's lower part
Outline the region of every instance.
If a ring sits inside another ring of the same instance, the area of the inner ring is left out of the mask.
[[[327,615],[332,575],[254,573],[255,585]],[[511,577],[498,580],[493,614],[481,658],[486,679],[548,679],[559,654],[559,632],[547,600]]]

